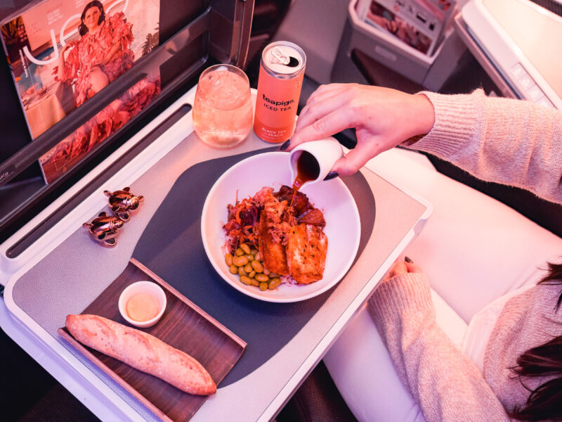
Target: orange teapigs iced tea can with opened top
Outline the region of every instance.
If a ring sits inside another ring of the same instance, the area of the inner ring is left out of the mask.
[[[261,53],[254,132],[263,141],[289,139],[303,85],[306,55],[289,41],[275,41]]]

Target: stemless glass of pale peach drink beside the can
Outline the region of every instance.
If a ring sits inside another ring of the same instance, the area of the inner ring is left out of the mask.
[[[233,65],[205,69],[193,103],[193,126],[202,141],[217,148],[235,146],[251,130],[254,113],[250,84]]]

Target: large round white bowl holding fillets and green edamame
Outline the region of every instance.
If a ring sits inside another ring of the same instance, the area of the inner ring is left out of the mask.
[[[230,274],[223,246],[223,225],[228,215],[226,205],[238,198],[254,196],[263,186],[277,191],[283,184],[292,186],[289,153],[273,152],[253,155],[230,167],[209,191],[203,205],[201,235],[207,257],[218,274],[235,289],[268,302],[298,302],[313,298],[332,288],[348,271],[359,248],[361,234],[359,212],[353,196],[340,179],[304,186],[311,203],[322,210],[328,239],[324,277],[308,285],[283,283],[275,290],[261,291],[247,286],[237,274]]]

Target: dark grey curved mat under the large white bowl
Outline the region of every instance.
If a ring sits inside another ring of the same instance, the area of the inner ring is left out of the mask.
[[[201,238],[201,213],[207,193],[216,179],[230,167],[265,151],[270,150],[216,158],[185,170],[150,220],[133,252],[133,257],[139,262],[248,344],[240,360],[221,383],[223,386],[243,378],[281,350],[337,288],[336,285],[322,295],[302,302],[263,302],[225,283],[207,259]],[[375,202],[371,188],[361,173],[343,180],[355,198],[360,215],[357,260],[372,233]]]

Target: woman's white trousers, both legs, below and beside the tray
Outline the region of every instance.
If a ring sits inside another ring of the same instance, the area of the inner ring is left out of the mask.
[[[475,314],[496,298],[539,281],[547,261],[560,261],[562,238],[436,171],[425,155],[393,148],[367,167],[433,205],[424,229],[404,255],[426,273],[437,323],[459,349]],[[324,363],[358,421],[423,421],[366,307],[348,324]]]

